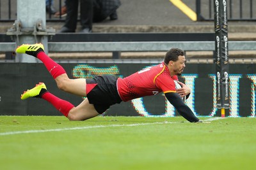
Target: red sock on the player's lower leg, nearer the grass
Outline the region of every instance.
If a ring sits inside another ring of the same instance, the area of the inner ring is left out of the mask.
[[[45,94],[42,95],[42,99],[45,99],[45,101],[51,103],[52,106],[60,111],[65,117],[68,117],[69,111],[74,108],[73,104],[54,96],[50,92],[45,92]]]

